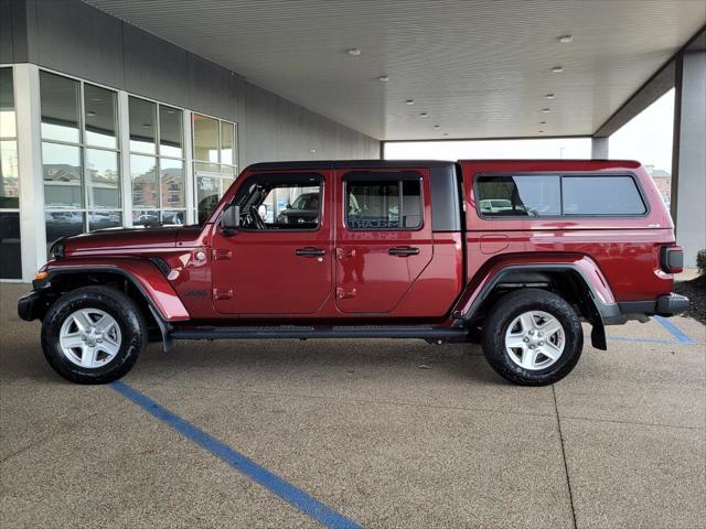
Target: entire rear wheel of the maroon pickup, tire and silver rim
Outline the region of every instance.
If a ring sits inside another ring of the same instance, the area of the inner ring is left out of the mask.
[[[501,298],[490,311],[482,345],[501,377],[522,386],[545,386],[574,369],[584,348],[584,331],[566,300],[524,289]]]

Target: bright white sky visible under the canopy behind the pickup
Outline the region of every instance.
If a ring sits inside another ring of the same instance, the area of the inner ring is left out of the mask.
[[[643,165],[672,171],[674,89],[645,108],[610,137],[608,156],[638,160]],[[385,144],[385,159],[461,160],[483,158],[571,158],[589,159],[589,138],[410,141]]]

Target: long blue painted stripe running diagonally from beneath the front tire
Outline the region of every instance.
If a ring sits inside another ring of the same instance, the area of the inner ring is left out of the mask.
[[[220,457],[233,468],[243,473],[254,482],[259,483],[269,492],[276,494],[304,515],[310,516],[322,526],[335,529],[357,529],[361,527],[345,516],[336,512],[335,510],[332,510],[321,501],[312,498],[303,490],[295,487],[281,477],[261,467],[253,460],[246,457],[239,452],[236,452],[217,439],[212,438],[203,430],[200,430],[190,422],[161,407],[152,399],[140,393],[138,390],[131,388],[127,384],[117,381],[113,382],[110,386],[118,393],[131,400],[145,411],[151,413],[160,421],[165,422],[190,441],[193,441],[202,449],[205,449],[216,457]]]

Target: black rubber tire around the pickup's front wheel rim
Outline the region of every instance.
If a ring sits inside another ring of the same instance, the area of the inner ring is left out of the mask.
[[[98,309],[109,314],[120,330],[118,353],[100,367],[78,366],[62,352],[62,325],[81,309]],[[42,349],[46,361],[62,377],[76,384],[108,384],[119,379],[132,368],[147,342],[147,323],[140,309],[129,296],[108,287],[83,287],[62,295],[42,322]]]

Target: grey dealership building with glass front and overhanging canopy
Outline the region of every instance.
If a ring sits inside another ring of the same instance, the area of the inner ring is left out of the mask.
[[[502,12],[474,2],[458,22],[420,1],[0,0],[0,279],[32,279],[58,237],[196,223],[254,162],[542,134],[591,138],[607,158],[610,134],[671,88],[671,207],[693,266],[706,247],[703,3],[649,2],[646,14],[580,3],[554,13],[574,20],[567,35],[544,39],[554,30],[537,22],[525,56],[513,28],[490,20]],[[622,40],[600,34],[608,19],[624,23]],[[552,120],[535,93],[556,99]]]

